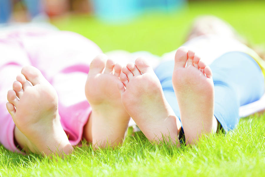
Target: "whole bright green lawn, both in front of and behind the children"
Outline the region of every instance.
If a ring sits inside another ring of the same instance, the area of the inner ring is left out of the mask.
[[[248,40],[265,44],[265,1],[192,2],[171,14],[144,14],[127,24],[104,24],[95,17],[75,15],[54,19],[96,42],[104,52],[146,50],[162,55],[185,40],[192,19],[214,14],[231,23]],[[129,130],[117,149],[76,148],[65,159],[20,155],[0,146],[0,176],[264,176],[265,114],[241,119],[224,135],[203,138],[194,147],[153,146]]]

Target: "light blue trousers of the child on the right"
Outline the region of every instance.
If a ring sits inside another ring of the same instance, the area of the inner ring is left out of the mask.
[[[161,63],[156,69],[165,98],[180,119],[178,102],[172,86],[174,60]],[[240,106],[252,103],[264,94],[265,84],[261,68],[251,56],[229,52],[210,65],[215,91],[214,115],[227,132],[239,121]]]

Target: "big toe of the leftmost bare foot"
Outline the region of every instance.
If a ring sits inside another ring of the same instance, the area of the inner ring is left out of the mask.
[[[25,78],[32,83],[32,85],[37,85],[41,81],[46,81],[42,73],[33,66],[24,66],[21,70],[21,73]]]

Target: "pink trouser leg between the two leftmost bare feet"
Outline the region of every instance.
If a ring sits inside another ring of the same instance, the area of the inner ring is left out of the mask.
[[[102,51],[94,42],[73,32],[33,29],[32,33],[35,35],[22,33],[24,47],[32,65],[57,91],[60,122],[69,142],[77,145],[91,112],[84,92],[89,64]]]

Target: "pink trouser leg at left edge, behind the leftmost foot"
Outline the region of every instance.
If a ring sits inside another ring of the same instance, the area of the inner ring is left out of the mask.
[[[20,152],[14,138],[14,131],[18,129],[6,109],[6,94],[12,88],[17,74],[21,72],[22,65],[29,65],[30,62],[24,50],[14,42],[10,45],[8,41],[2,40],[0,49],[3,58],[0,60],[0,142],[5,148]]]

